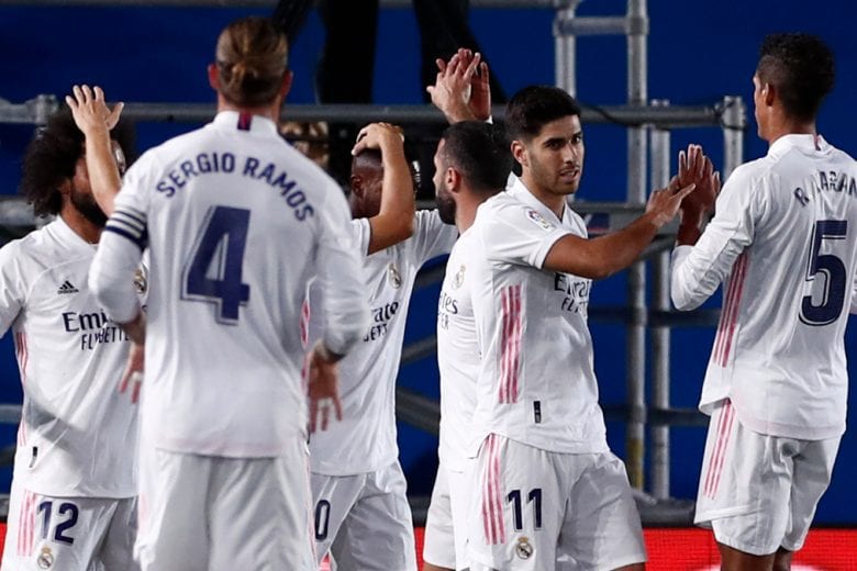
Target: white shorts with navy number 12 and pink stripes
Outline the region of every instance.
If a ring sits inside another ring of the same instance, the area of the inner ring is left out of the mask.
[[[2,571],[138,569],[135,497],[56,497],[12,482]]]

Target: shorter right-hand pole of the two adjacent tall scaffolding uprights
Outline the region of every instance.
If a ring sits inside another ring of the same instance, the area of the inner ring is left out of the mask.
[[[669,101],[657,100],[653,105],[669,105]],[[652,186],[665,188],[670,179],[670,132],[653,128],[652,136]],[[654,257],[655,311],[668,311],[669,305],[669,250]],[[652,327],[652,404],[660,410],[669,408],[669,326]],[[653,426],[652,430],[652,495],[658,500],[669,497],[669,425]]]

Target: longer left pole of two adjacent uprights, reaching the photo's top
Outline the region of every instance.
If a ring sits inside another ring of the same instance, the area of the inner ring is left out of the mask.
[[[628,0],[627,18],[647,22],[645,0]],[[648,99],[646,78],[646,26],[633,26],[627,35],[627,102],[645,105]],[[627,202],[643,204],[646,201],[646,128],[630,127],[627,131],[628,181]],[[646,267],[644,262],[628,268],[627,298],[632,321],[627,328],[627,400],[631,417],[626,435],[628,480],[631,485],[642,490],[644,484],[643,463],[645,458],[645,379],[646,379]]]

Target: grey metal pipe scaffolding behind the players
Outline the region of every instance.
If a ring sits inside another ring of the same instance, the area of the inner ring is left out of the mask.
[[[471,0],[474,8],[553,8],[555,81],[572,96],[577,91],[576,51],[579,36],[624,35],[627,52],[627,99],[624,105],[585,108],[583,123],[619,123],[627,128],[628,178],[624,203],[578,202],[575,210],[581,214],[599,213],[609,216],[609,229],[624,226],[644,211],[650,182],[664,188],[670,177],[670,131],[682,127],[717,127],[723,132],[723,178],[743,161],[743,133],[746,108],[738,97],[724,97],[711,105],[678,107],[668,101],[648,101],[647,37],[649,20],[645,0],[627,0],[624,15],[578,16],[582,0]],[[272,8],[275,0],[0,0],[2,5],[170,5],[170,7],[255,7]],[[381,7],[403,8],[410,0],[381,0]],[[52,94],[38,94],[23,103],[0,99],[0,123],[42,125],[58,108]],[[204,103],[127,103],[123,112],[138,122],[207,122],[215,113],[213,104]],[[503,109],[493,114],[502,119]],[[286,105],[283,117],[297,121],[389,121],[445,122],[431,105]],[[31,210],[20,199],[0,201],[0,225],[25,226],[34,223]],[[675,227],[672,228],[675,232]],[[624,307],[590,307],[590,316],[622,322],[627,326],[627,404],[605,407],[608,418],[622,418],[627,424],[625,458],[632,485],[644,486],[645,429],[652,426],[650,493],[657,500],[669,497],[669,426],[702,425],[704,418],[694,410],[670,407],[670,338],[669,329],[677,325],[714,324],[717,312],[672,312],[669,303],[669,249],[674,235],[659,236],[644,255],[644,260],[628,271],[627,304]],[[653,267],[653,306],[646,303],[646,262]],[[423,275],[421,280],[439,280],[442,271]],[[419,283],[418,283],[419,287]],[[645,399],[646,335],[652,334],[652,403]],[[434,352],[434,340],[429,338],[405,347],[402,363]],[[436,403],[418,395],[398,391],[400,418],[427,430],[436,432],[439,410]],[[0,422],[18,414],[13,407],[0,405]]]

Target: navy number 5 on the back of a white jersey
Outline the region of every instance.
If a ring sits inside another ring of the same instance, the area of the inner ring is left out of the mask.
[[[848,221],[845,220],[821,220],[815,223],[805,279],[811,282],[822,273],[824,295],[820,305],[813,303],[812,294],[803,296],[800,317],[806,325],[827,325],[842,314],[847,284],[845,264],[833,254],[821,254],[821,247],[825,239],[845,239],[847,232]]]

